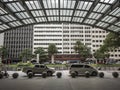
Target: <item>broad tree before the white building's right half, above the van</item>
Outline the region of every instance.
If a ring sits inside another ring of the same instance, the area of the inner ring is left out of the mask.
[[[76,41],[74,50],[83,58],[83,60],[85,60],[87,57],[91,55],[90,49],[80,41]]]

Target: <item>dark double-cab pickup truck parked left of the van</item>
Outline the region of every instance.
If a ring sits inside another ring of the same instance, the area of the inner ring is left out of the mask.
[[[52,76],[53,73],[55,73],[55,70],[53,68],[48,68],[44,64],[36,64],[34,67],[24,67],[22,72],[26,74],[29,72],[32,72],[33,74],[42,74],[43,72],[46,72],[48,76]]]

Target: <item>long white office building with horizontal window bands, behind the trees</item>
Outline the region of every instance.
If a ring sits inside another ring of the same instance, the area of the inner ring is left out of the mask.
[[[103,44],[107,34],[105,30],[86,25],[39,24],[34,26],[33,52],[37,47],[47,50],[48,45],[54,43],[60,54],[75,54],[73,46],[80,40],[94,53]],[[110,58],[120,58],[120,50],[114,54],[110,52]]]

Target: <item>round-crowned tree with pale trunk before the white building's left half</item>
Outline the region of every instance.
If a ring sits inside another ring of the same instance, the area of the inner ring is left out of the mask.
[[[49,44],[48,46],[48,54],[51,56],[51,63],[54,63],[54,54],[57,53],[57,47],[55,44]]]

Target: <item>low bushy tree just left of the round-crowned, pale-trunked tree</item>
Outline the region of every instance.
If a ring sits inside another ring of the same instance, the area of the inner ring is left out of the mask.
[[[42,47],[38,47],[35,51],[34,51],[35,55],[37,56],[37,54],[39,54],[39,62],[45,62],[47,60],[47,54],[44,51],[44,49]]]

